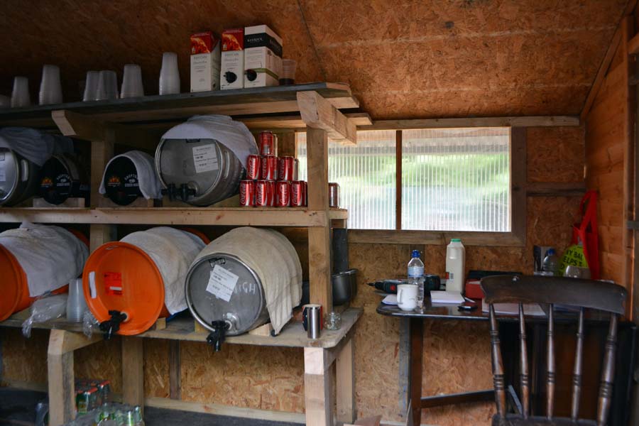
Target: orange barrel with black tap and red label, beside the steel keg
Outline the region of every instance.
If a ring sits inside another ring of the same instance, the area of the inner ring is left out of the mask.
[[[182,229],[207,237],[195,229]],[[206,240],[205,240],[206,239]],[[98,322],[111,320],[109,311],[126,314],[119,334],[146,332],[158,318],[168,317],[164,305],[164,280],[146,251],[114,241],[99,246],[84,265],[82,286],[87,306]]]

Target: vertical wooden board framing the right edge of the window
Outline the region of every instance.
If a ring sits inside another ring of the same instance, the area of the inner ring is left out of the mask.
[[[526,129],[513,127],[510,131],[510,229],[525,244],[526,241],[526,191],[528,182],[526,160]]]

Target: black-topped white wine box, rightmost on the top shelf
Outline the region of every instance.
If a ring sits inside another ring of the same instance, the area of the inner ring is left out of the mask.
[[[266,25],[244,28],[244,87],[278,86],[282,39]]]

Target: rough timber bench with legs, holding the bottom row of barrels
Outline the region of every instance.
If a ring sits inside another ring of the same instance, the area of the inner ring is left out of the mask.
[[[360,308],[342,312],[339,330],[322,330],[319,339],[308,339],[300,322],[289,322],[276,337],[241,334],[226,337],[224,344],[286,346],[304,349],[304,393],[306,425],[329,426],[338,422],[352,423],[356,417],[354,382],[354,325],[361,317]],[[21,327],[28,310],[18,312],[0,327]],[[33,328],[51,329],[48,348],[48,383],[50,424],[61,425],[75,417],[73,352],[102,340],[100,332],[89,339],[82,334],[82,324],[63,319],[33,324]],[[165,329],[149,330],[122,339],[122,375],[127,385],[123,400],[134,405],[144,403],[143,345],[140,337],[149,339],[206,342],[208,332],[197,331],[191,317],[166,322]],[[333,413],[331,366],[336,368],[337,413]],[[334,416],[335,414],[335,416]],[[275,419],[274,419],[275,420]]]

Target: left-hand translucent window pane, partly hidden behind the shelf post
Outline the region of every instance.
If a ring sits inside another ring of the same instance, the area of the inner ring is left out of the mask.
[[[300,179],[307,180],[306,133],[297,133]],[[395,229],[395,131],[359,131],[357,145],[329,142],[329,182],[351,229]]]

